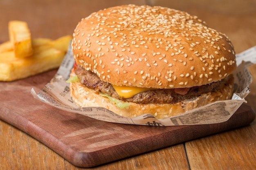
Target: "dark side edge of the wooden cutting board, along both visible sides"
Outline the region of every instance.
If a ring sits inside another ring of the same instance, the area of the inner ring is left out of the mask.
[[[8,108],[1,108],[1,113],[9,113]],[[24,124],[16,122],[17,117],[19,121],[24,119]],[[49,134],[47,131],[41,129],[31,121],[25,120],[25,118],[19,117],[17,114],[13,119],[4,119],[7,123],[19,128],[20,130],[31,135],[38,141],[42,142],[56,153],[61,155],[67,161],[72,163],[74,166],[89,168],[99,166],[104,163],[109,163],[126,157],[139,155],[144,152],[150,152],[167,146],[172,146],[185,141],[198,139],[208,135],[216,134],[226,130],[243,127],[249,125],[255,119],[255,113],[250,106],[243,104],[237,112],[228,120],[219,124],[206,124],[206,125],[192,125],[192,126],[178,126],[175,130],[170,127],[167,128],[163,133],[159,135],[148,136],[141,140],[134,140],[124,144],[112,146],[97,152],[78,152],[72,150],[64,143],[58,143],[58,146],[54,143],[55,137]],[[16,119],[16,120],[15,120]],[[239,121],[237,121],[239,120]],[[99,121],[99,120],[95,120]],[[106,122],[108,123],[108,122]],[[20,126],[22,125],[22,126]],[[139,125],[125,125],[125,126],[138,126]],[[168,131],[168,128],[170,129]],[[34,129],[34,131],[28,131],[28,129]],[[139,149],[134,149],[139,148]],[[70,153],[67,155],[66,152]]]

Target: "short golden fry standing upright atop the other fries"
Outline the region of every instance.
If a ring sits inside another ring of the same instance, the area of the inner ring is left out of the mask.
[[[15,56],[18,58],[29,57],[33,54],[31,33],[27,22],[10,21],[9,22],[9,39],[13,44]]]

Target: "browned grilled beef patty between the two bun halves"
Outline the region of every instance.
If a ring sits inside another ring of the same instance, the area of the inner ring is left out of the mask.
[[[218,82],[212,82],[211,84],[202,86],[194,86],[187,89],[188,92],[184,95],[178,94],[174,88],[170,88],[144,91],[133,97],[123,98],[117,94],[110,83],[102,81],[95,73],[92,73],[92,71],[86,71],[82,66],[78,65],[75,69],[75,73],[79,77],[80,83],[87,88],[94,89],[97,93],[109,95],[126,102],[135,102],[137,104],[174,104],[182,102],[185,99],[198,97],[203,93],[219,91],[219,89],[228,86],[228,82],[233,81],[234,79],[233,76],[228,76]]]

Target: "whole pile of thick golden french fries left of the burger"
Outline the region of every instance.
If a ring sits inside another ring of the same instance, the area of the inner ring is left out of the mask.
[[[14,81],[58,68],[72,36],[31,39],[26,22],[10,21],[9,38],[0,44],[0,81]]]

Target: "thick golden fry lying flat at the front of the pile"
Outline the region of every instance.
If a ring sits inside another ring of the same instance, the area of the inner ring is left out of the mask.
[[[14,81],[60,66],[65,51],[50,48],[32,57],[17,58],[14,51],[0,53],[0,81]]]

